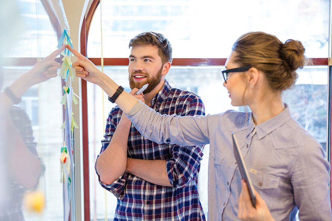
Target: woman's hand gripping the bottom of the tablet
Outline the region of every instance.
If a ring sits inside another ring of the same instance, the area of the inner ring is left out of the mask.
[[[254,190],[256,209],[252,206],[245,180],[241,180],[242,190],[239,197],[239,212],[237,217],[246,221],[274,221],[264,199]]]

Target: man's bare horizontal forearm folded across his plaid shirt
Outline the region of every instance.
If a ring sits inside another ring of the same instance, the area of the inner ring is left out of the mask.
[[[140,160],[127,158],[127,171],[150,183],[172,187],[168,180],[166,160]]]

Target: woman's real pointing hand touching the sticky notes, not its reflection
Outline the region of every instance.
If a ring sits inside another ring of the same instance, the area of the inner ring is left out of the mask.
[[[100,83],[101,75],[104,75],[99,69],[94,65],[89,59],[84,57],[75,49],[72,49],[69,45],[67,45],[69,51],[71,51],[75,57],[78,59],[73,63],[73,68],[75,69],[76,76],[83,78],[84,80],[98,84]]]

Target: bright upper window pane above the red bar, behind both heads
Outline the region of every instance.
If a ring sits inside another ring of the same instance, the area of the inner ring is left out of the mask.
[[[239,7],[241,6],[241,7]],[[127,57],[128,42],[143,31],[160,32],[174,58],[226,58],[248,31],[302,41],[307,57],[328,57],[328,0],[102,1],[103,56]],[[100,6],[89,31],[88,57],[101,57]]]

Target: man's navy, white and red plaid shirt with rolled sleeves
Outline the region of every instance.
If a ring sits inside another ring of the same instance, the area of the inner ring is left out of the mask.
[[[163,88],[152,98],[151,108],[161,114],[205,115],[199,96],[173,88],[166,80]],[[118,106],[110,112],[100,153],[109,145],[122,113]],[[127,171],[114,183],[105,185],[97,173],[102,187],[118,198],[114,220],[205,220],[197,188],[203,147],[158,144],[144,138],[131,125],[127,156],[167,160],[168,179],[173,187],[147,182]]]

